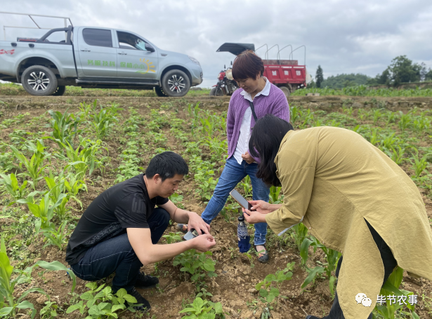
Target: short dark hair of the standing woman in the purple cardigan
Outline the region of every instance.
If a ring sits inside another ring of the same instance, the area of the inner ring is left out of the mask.
[[[252,50],[246,50],[237,55],[233,63],[233,78],[236,81],[247,78],[256,79],[256,76],[263,76],[264,62]]]

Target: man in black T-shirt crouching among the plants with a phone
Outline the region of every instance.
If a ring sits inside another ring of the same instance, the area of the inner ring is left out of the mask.
[[[149,311],[149,302],[135,288],[152,287],[159,280],[140,272],[143,265],[161,262],[191,248],[204,252],[216,245],[209,234],[210,226],[196,212],[177,208],[168,199],[186,174],[185,160],[165,151],[152,158],[144,175],[116,184],[96,197],[79,219],[67,245],[66,262],[74,274],[95,281],[115,271],[113,292],[124,288],[138,304],[143,304],[137,310]],[[188,223],[202,236],[156,245],[169,219]]]

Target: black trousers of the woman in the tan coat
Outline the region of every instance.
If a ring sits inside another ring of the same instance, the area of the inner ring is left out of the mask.
[[[395,257],[393,256],[393,252],[391,252],[390,247],[386,244],[383,238],[379,236],[379,233],[375,231],[375,229],[372,228],[372,226],[366,221],[367,226],[369,227],[370,233],[372,233],[372,237],[375,240],[375,243],[377,244],[377,247],[379,249],[379,253],[381,254],[381,259],[383,259],[384,264],[384,283],[386,283],[388,277],[393,272],[393,269],[395,269],[395,266],[398,266],[398,262],[396,262]],[[336,277],[339,277],[339,270],[341,269],[342,264],[342,257],[339,259],[339,262],[337,264],[336,268]],[[322,319],[345,319],[345,316],[343,315],[341,306],[339,305],[339,299],[337,297],[337,292],[334,294],[334,301],[332,308],[330,309],[329,315]],[[372,313],[367,317],[367,319],[372,319]]]

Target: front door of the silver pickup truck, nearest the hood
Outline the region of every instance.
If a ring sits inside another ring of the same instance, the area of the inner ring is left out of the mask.
[[[117,31],[117,46],[117,77],[157,79],[157,50],[150,43],[135,34]]]

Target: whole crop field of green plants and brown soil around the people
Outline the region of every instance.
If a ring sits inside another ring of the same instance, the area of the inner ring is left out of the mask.
[[[0,92],[5,88],[20,90],[7,84]],[[157,106],[152,107],[145,99],[124,101],[110,95],[148,91],[68,88],[67,92],[104,93],[112,96],[112,102],[70,104],[61,100],[51,107],[48,97],[46,109],[23,102],[18,110],[0,102],[0,231],[4,243],[0,252],[0,307],[10,311],[9,318],[30,315],[32,308],[37,318],[53,318],[51,311],[57,318],[117,318],[110,311],[119,318],[142,318],[124,309],[119,296],[110,294],[112,276],[91,284],[77,280],[72,292],[72,281],[62,271],[67,240],[98,194],[143,172],[152,156],[165,150],[181,154],[190,168],[171,201],[202,212],[225,165],[227,109],[222,104],[207,102],[204,107],[196,102],[193,94],[204,94],[204,90],[191,91],[174,102],[157,100]],[[191,96],[193,103],[188,102]],[[384,151],[417,184],[432,218],[432,110],[354,109],[348,101],[331,111],[290,103],[290,111],[296,129],[320,125],[348,128]],[[244,179],[237,190],[251,198],[250,179]],[[270,202],[282,200],[280,188],[272,187]],[[144,318],[195,318],[192,313],[204,311],[214,314],[209,318],[223,318],[222,311],[232,318],[270,318],[270,314],[284,318],[284,313],[304,318],[301,308],[318,316],[328,313],[340,254],[299,224],[280,237],[269,231],[270,262],[259,264],[254,251],[238,252],[235,229],[239,208],[228,201],[212,222],[218,244],[211,252],[192,250],[145,267],[145,272],[159,276],[161,283],[157,289],[143,292],[152,304],[152,312]],[[249,227],[253,233],[253,226]],[[181,233],[176,233],[173,224],[162,243],[178,240]],[[46,263],[35,265],[38,261]],[[377,307],[377,318],[416,318],[410,314],[414,309],[419,318],[428,318],[432,313],[431,283],[406,274],[402,277],[401,269],[398,275],[403,278],[402,283],[393,282],[400,286],[398,292],[417,294],[419,304]],[[102,285],[106,286],[101,294],[94,297]],[[89,299],[97,309],[86,306]],[[166,299],[171,302],[167,304]],[[95,315],[95,309],[100,314]],[[183,317],[188,314],[190,317]]]

